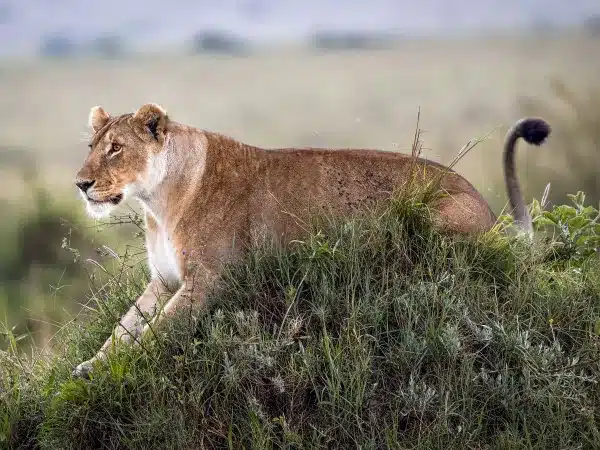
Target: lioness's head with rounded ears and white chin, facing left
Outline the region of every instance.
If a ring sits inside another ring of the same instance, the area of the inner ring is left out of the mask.
[[[111,117],[101,106],[90,110],[90,152],[75,184],[92,217],[107,216],[129,196],[149,196],[160,182],[158,156],[166,140],[168,117],[158,105]]]

